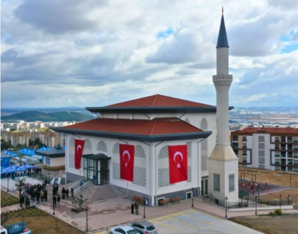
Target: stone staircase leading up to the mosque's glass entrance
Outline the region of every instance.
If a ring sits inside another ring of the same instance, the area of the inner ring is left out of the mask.
[[[90,184],[88,187],[86,187],[81,192],[76,194],[75,197],[79,198],[80,194],[82,194],[83,198],[87,199],[87,201],[89,202],[118,197],[114,188],[110,184],[104,184],[104,185]]]

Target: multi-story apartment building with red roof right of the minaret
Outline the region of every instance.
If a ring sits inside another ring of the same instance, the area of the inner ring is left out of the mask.
[[[248,127],[231,132],[239,165],[298,172],[298,128]]]

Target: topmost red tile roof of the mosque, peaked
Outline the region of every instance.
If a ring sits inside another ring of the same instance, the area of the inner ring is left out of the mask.
[[[172,98],[160,94],[116,103],[107,107],[214,107],[202,103]]]

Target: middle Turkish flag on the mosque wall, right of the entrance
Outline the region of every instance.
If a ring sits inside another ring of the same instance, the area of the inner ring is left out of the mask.
[[[135,146],[120,144],[120,178],[133,181],[134,180],[134,158]]]

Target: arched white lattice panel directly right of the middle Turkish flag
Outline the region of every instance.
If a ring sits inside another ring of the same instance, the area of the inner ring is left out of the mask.
[[[135,160],[134,160],[134,184],[146,187],[146,153],[141,145],[135,146]]]

